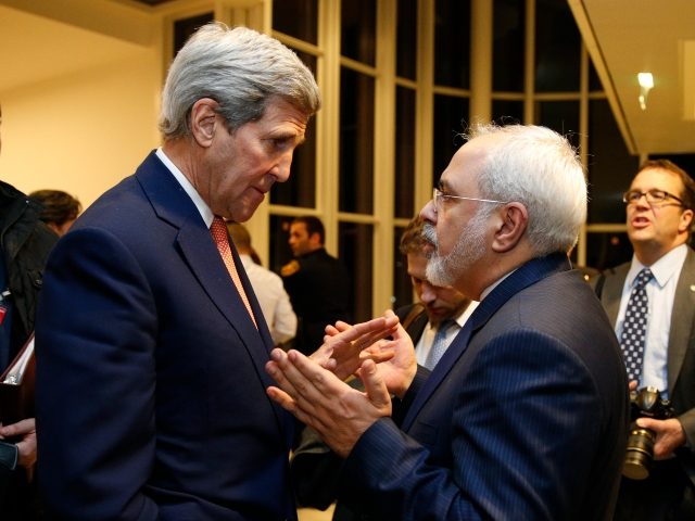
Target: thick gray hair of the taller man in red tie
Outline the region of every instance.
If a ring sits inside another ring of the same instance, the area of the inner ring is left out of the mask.
[[[278,40],[247,27],[210,23],[186,42],[169,67],[160,130],[165,140],[189,136],[191,107],[211,98],[233,132],[261,119],[274,97],[308,116],[321,103],[312,72]]]

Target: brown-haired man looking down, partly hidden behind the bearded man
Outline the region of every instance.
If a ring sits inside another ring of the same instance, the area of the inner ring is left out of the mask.
[[[420,216],[413,218],[401,236],[399,247],[406,258],[407,272],[419,302],[403,306],[395,314],[415,344],[417,363],[431,370],[478,303],[451,285],[439,287],[427,281],[427,262],[433,246],[425,237],[424,227],[425,220]],[[447,321],[451,322],[447,329],[439,332],[441,325]],[[351,385],[364,389],[357,379],[352,380]],[[304,429],[291,463],[300,505],[325,510],[336,501],[342,459],[321,442],[316,431]],[[358,521],[363,518],[344,503],[338,503],[332,519]]]

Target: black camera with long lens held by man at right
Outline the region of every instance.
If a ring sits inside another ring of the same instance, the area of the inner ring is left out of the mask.
[[[649,476],[654,461],[654,442],[656,433],[650,429],[637,425],[637,418],[666,420],[674,416],[671,402],[661,398],[656,387],[643,387],[630,392],[630,430],[628,447],[622,466],[622,475],[631,480],[645,480]]]

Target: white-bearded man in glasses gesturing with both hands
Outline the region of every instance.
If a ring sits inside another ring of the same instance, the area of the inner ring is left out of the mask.
[[[585,213],[565,138],[480,127],[420,214],[435,247],[427,278],[480,301],[432,372],[403,329],[393,359],[362,364],[365,393],[273,352],[268,393],[344,458],[341,501],[379,520],[610,519],[628,382],[567,257]]]

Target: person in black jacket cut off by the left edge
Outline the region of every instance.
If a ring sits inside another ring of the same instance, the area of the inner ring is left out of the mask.
[[[43,269],[58,240],[40,220],[40,211],[38,203],[0,181],[0,373],[34,332]],[[0,517],[40,519],[31,483],[37,458],[35,419],[5,422],[0,425],[0,440],[4,440],[0,442]]]

